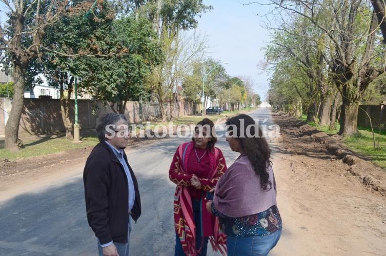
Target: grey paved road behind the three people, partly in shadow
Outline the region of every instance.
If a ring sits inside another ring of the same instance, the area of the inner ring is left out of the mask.
[[[268,109],[251,116],[260,124],[269,119],[267,127],[272,124]],[[223,137],[217,146],[229,166],[238,154],[229,150],[224,132],[218,134]],[[164,139],[127,149],[143,202],[143,215],[133,225],[131,255],[173,255],[175,185],[168,170],[177,145],[188,140]],[[96,239],[86,220],[83,165],[74,160],[75,175],[0,202],[0,255],[97,255]]]

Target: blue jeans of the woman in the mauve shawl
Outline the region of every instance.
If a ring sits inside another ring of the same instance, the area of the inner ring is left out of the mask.
[[[266,256],[277,244],[281,235],[281,227],[269,235],[255,235],[247,238],[227,238],[228,256]]]

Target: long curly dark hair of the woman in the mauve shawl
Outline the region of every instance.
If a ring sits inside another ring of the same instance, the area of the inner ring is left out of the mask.
[[[260,177],[261,187],[264,190],[272,189],[272,183],[269,180],[270,175],[267,171],[267,167],[272,166],[272,162],[270,161],[271,150],[267,140],[262,137],[261,127],[257,126],[252,117],[246,114],[231,117],[227,120],[226,125],[228,126],[228,131],[233,132],[235,132],[235,130],[232,130],[231,128],[234,127],[231,126],[235,126],[237,135],[235,139],[239,140],[241,152],[248,156],[253,170],[256,175]],[[256,132],[258,132],[258,136],[255,136]],[[240,136],[240,134],[242,136]]]

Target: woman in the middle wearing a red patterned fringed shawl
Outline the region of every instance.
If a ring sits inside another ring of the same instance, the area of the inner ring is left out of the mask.
[[[200,121],[192,142],[178,146],[169,169],[169,179],[177,184],[174,193],[175,256],[207,255],[208,240],[215,251],[226,252],[226,235],[219,231],[218,219],[205,209],[206,192],[216,186],[227,170],[217,142],[214,123]]]

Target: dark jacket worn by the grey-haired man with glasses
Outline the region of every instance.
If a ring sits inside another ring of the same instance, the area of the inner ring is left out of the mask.
[[[124,158],[134,183],[135,202],[131,217],[136,222],[141,214],[138,183],[126,154]],[[128,180],[124,167],[106,142],[96,145],[89,155],[83,172],[83,182],[87,220],[99,242],[127,243]]]

